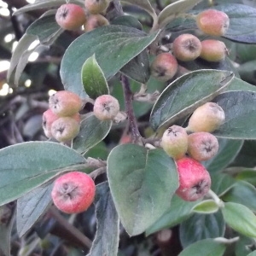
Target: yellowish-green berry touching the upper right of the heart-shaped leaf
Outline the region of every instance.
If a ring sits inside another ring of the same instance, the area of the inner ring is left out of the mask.
[[[172,125],[163,134],[161,147],[173,159],[183,158],[188,149],[188,135],[186,130],[178,125]]]

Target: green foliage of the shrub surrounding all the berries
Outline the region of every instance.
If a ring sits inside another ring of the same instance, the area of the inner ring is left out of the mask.
[[[97,231],[90,256],[118,254],[119,220],[130,236],[143,233],[149,236],[179,224],[179,239],[183,247],[180,256],[207,255],[209,251],[211,255],[221,256],[230,250],[230,243],[236,243],[234,255],[246,255],[253,251],[253,238],[256,237],[255,171],[253,168],[227,167],[232,163],[240,166],[242,154],[239,152],[244,140],[256,139],[256,88],[241,79],[232,62],[236,61],[236,48],[238,53],[241,52],[238,50],[241,44],[237,43],[256,44],[256,32],[252,26],[256,24],[256,9],[241,3],[216,1],[216,9],[223,10],[230,17],[230,29],[223,40],[230,46],[235,45],[235,53],[230,55],[232,61],[226,57],[214,64],[201,60],[181,63],[190,72],[165,86],[150,78],[147,49],[154,45],[155,40],[161,44],[163,31],[172,32],[172,37],[188,30],[194,32],[195,20],[191,17],[209,6],[200,0],[179,0],[156,15],[148,0],[124,2],[151,15],[153,25],[149,27],[150,32],[145,32],[148,27],[142,29],[135,17],[118,13],[111,25],[84,33],[68,46],[61,61],[61,82],[66,90],[82,98],[90,96],[96,99],[111,92],[123,108],[122,85],[124,88],[127,84],[121,83],[117,79],[119,76],[128,77],[135,92],[141,83],[148,85],[148,93],[162,91],[154,105],[133,102],[137,119],[147,119],[146,128],[143,128],[145,137],[148,130],[151,136],[160,137],[169,125],[185,124],[189,114],[203,103],[218,102],[226,115],[224,125],[214,132],[220,148],[217,156],[204,163],[211,174],[212,191],[217,198],[182,201],[175,195],[178,177],[174,160],[162,149],[148,149],[141,143],[115,145],[108,152],[102,140],[117,127],[112,121],[100,121],[89,114],[83,119],[72,148],[54,142],[29,142],[0,150],[0,205],[6,207],[9,202],[17,200],[17,232],[24,236],[51,205],[50,189],[54,178],[72,170],[87,173],[97,170],[91,165],[89,156],[95,149],[94,155],[101,157],[102,148],[97,148],[97,145],[103,145],[107,152],[103,158],[107,159],[108,177],[107,182],[97,186]],[[36,1],[18,9],[15,15],[35,9],[57,8],[61,3],[65,1]],[[70,3],[83,5],[84,1],[72,0]],[[113,3],[113,9],[121,6],[119,1]],[[124,8],[127,7],[125,3]],[[191,15],[184,15],[188,12]],[[55,10],[46,11],[28,26],[12,55],[9,79],[13,79],[15,73],[15,83],[18,84],[32,52],[29,45],[34,40],[49,46],[62,32],[55,22]],[[246,65],[248,63],[239,68],[243,75],[247,72]],[[131,118],[129,114],[128,117]],[[249,147],[248,143],[242,150],[245,151],[246,147]],[[13,222],[14,218],[2,224],[1,236],[5,239],[1,240],[0,247],[7,255]]]

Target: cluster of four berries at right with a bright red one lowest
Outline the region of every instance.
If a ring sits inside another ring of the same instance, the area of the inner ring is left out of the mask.
[[[200,161],[218,153],[218,140],[210,132],[218,129],[224,119],[224,110],[214,102],[207,102],[195,109],[187,128],[172,125],[163,134],[161,147],[177,164],[176,193],[185,201],[201,199],[211,187],[211,177]],[[188,135],[187,131],[193,133]]]

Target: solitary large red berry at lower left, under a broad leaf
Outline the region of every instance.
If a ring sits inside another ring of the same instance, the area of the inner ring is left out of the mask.
[[[94,181],[84,172],[68,172],[55,180],[51,197],[55,207],[66,213],[86,211],[96,192]]]

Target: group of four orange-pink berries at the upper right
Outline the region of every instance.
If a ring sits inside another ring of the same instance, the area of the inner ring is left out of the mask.
[[[229,16],[222,11],[207,9],[195,17],[201,32],[210,36],[223,36],[230,26]],[[222,61],[228,53],[226,45],[216,39],[201,41],[195,35],[183,33],[172,44],[170,52],[160,53],[151,63],[150,71],[154,78],[166,82],[177,73],[178,61],[194,61],[201,57],[205,61]]]

